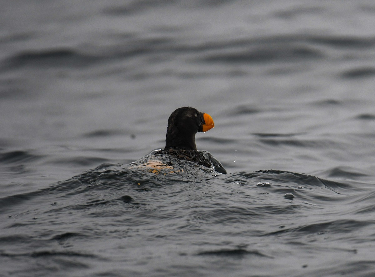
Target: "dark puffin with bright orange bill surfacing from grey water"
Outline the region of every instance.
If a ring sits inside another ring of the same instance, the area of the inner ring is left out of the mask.
[[[213,127],[214,122],[209,114],[190,107],[178,108],[168,118],[165,148],[150,154],[171,155],[180,160],[192,161],[226,174],[226,170],[220,162],[209,152],[196,149],[196,132],[206,132]]]

